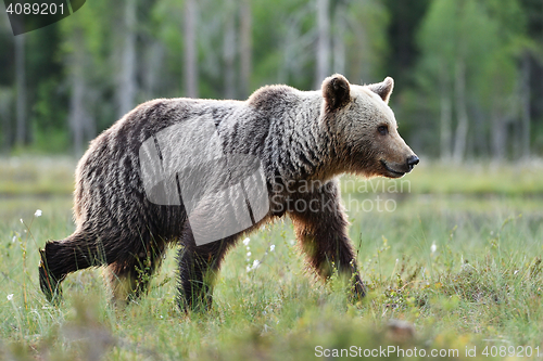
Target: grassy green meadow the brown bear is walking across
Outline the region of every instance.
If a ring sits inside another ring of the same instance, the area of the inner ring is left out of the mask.
[[[175,249],[149,295],[126,308],[109,304],[100,269],[70,275],[60,307],[46,301],[38,247],[74,230],[74,167],[0,159],[0,360],[287,361],[387,347],[391,359],[543,358],[539,164],[426,165],[395,183],[346,177],[350,234],[370,289],[364,301],[350,302],[342,280],[325,284],[306,270],[286,220],[240,243],[213,310],[188,315],[175,302]]]

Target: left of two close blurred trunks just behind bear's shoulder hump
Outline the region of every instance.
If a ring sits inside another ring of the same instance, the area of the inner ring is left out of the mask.
[[[223,34],[223,60],[225,63],[225,98],[236,99],[236,3],[225,0],[225,31]]]

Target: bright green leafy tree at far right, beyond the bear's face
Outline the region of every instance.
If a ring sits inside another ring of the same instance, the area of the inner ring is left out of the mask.
[[[421,22],[417,36],[421,57],[416,72],[420,96],[433,100],[427,109],[439,120],[444,109],[435,101],[438,94],[455,104],[460,96],[457,82],[465,78],[468,118],[472,119],[469,127],[479,132],[468,141],[478,147],[478,156],[489,155],[484,139],[502,131],[500,121],[519,119],[521,87],[526,87],[521,83],[519,60],[533,48],[527,37],[526,20],[519,0],[433,0]],[[451,114],[455,126],[457,109]],[[438,121],[433,123],[434,134],[440,127]],[[495,149],[491,152],[495,153]]]

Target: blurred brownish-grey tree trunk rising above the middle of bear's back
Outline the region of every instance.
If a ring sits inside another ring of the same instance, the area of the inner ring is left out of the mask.
[[[185,92],[198,98],[197,1],[185,2]]]

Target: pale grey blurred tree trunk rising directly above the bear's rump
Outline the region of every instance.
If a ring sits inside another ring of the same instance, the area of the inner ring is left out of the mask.
[[[130,112],[136,105],[136,0],[125,0],[124,48],[121,81],[117,87],[118,117]]]

